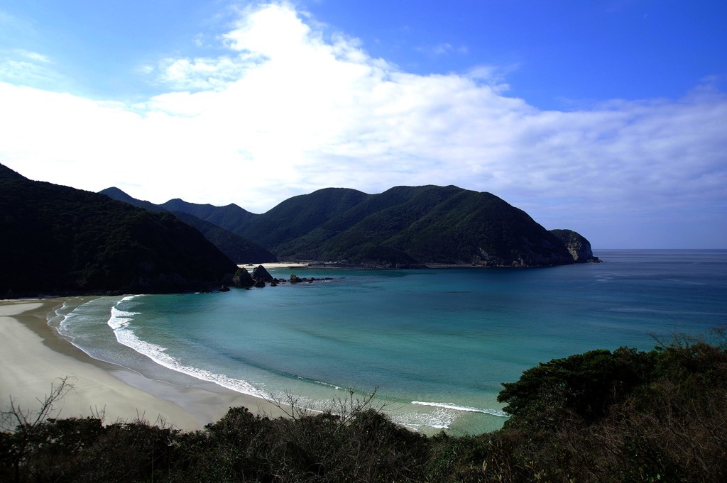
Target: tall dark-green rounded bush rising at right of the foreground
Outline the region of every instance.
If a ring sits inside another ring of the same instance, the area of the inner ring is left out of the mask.
[[[494,439],[515,431],[521,439],[510,449],[520,468],[510,481],[727,481],[720,331],[709,341],[680,336],[651,352],[553,360],[505,384],[499,399],[510,402],[513,417]]]

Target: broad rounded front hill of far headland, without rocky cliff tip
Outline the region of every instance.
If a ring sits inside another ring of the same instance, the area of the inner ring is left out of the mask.
[[[490,193],[454,186],[395,187],[369,195],[273,251],[281,258],[394,265],[543,266],[574,261],[563,242],[524,211]]]

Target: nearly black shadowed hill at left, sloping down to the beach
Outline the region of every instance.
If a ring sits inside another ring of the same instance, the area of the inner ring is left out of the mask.
[[[0,296],[219,287],[236,265],[198,230],[0,165]]]

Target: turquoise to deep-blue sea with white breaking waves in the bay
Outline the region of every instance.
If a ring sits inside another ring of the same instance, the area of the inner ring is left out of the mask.
[[[727,326],[727,250],[602,250],[547,268],[270,269],[313,283],[104,296],[49,325],[143,375],[334,410],[370,404],[414,431],[507,421],[503,382],[554,358],[651,350]]]

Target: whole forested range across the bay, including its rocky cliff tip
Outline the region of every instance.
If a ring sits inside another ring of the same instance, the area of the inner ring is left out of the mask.
[[[290,261],[531,267],[597,260],[581,235],[549,232],[495,195],[455,186],[400,186],[377,195],[326,188],[265,214],[182,200],[160,206],[217,224]]]

